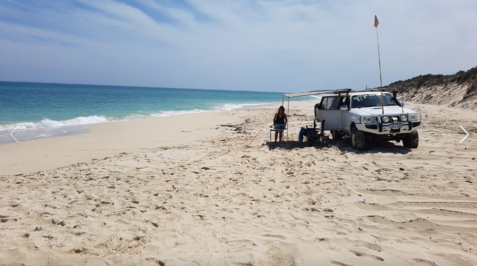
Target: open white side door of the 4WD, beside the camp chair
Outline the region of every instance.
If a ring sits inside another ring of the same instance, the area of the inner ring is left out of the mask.
[[[340,96],[324,96],[318,109],[316,110],[316,120],[322,122],[325,120],[324,130],[341,129],[341,111],[339,109],[341,99]]]

